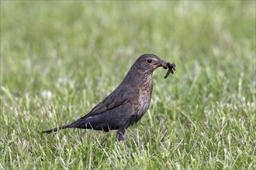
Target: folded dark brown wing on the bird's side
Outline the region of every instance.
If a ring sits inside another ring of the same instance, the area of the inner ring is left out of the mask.
[[[92,110],[88,113],[88,115],[92,114],[100,114],[106,110],[111,110],[115,107],[118,107],[121,104],[126,104],[128,100],[127,93],[129,90],[127,89],[116,89],[112,93],[109,94],[102,102],[96,105]]]

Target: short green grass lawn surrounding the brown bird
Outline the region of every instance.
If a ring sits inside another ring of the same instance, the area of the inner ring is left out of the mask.
[[[255,169],[255,2],[1,1],[0,169]],[[88,113],[143,53],[147,114],[116,131],[40,131]]]

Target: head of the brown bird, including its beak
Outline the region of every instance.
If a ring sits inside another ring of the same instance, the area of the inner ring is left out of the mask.
[[[134,63],[134,66],[136,66],[138,70],[148,73],[153,73],[159,66],[163,66],[164,69],[168,68],[167,63],[154,54],[141,55]]]

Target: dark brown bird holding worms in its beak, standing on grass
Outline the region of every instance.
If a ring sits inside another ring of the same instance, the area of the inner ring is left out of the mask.
[[[133,63],[119,87],[92,108],[88,114],[71,124],[43,131],[43,133],[51,133],[65,128],[118,130],[119,141],[124,141],[126,128],[137,123],[150,105],[153,87],[152,73],[160,66],[164,69],[169,68],[167,76],[175,70],[174,63],[166,63],[154,54],[140,56]]]

